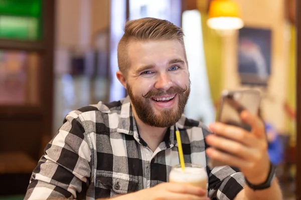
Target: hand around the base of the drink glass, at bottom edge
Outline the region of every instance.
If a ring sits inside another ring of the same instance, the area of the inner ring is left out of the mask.
[[[144,200],[177,200],[177,199],[195,199],[209,200],[206,196],[207,191],[193,185],[184,183],[160,183],[154,187],[142,189],[130,194],[116,197],[116,200],[126,199],[144,199]]]

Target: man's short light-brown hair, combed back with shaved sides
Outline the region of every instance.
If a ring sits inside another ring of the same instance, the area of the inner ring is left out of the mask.
[[[123,75],[127,76],[127,69],[130,65],[127,47],[129,42],[133,40],[148,41],[177,39],[183,46],[185,60],[187,62],[183,36],[184,33],[182,28],[168,20],[145,17],[127,21],[124,26],[124,34],[121,37],[117,48],[119,70]]]

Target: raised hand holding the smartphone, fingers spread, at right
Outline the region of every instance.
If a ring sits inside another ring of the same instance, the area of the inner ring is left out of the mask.
[[[246,110],[241,112],[240,117],[252,127],[251,132],[213,123],[209,128],[216,134],[207,136],[206,141],[212,147],[207,148],[206,152],[213,159],[238,167],[252,184],[260,184],[266,180],[270,167],[265,127],[258,116]]]

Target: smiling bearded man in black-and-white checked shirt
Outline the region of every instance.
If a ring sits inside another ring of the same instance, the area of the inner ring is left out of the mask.
[[[207,166],[211,199],[281,198],[257,116],[242,112],[252,132],[214,123],[210,134],[182,115],[190,81],[180,27],[156,18],[127,22],[118,64],[129,96],[70,112],[34,170],[26,199],[208,199],[201,188],[167,182],[179,163],[176,128],[185,162],[206,166],[212,157],[241,171]]]

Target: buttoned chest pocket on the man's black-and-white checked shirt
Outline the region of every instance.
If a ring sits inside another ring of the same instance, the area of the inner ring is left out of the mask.
[[[95,186],[104,190],[110,190],[110,196],[103,197],[112,197],[117,194],[126,194],[136,191],[138,188],[138,180],[113,174],[101,173],[96,175]]]

